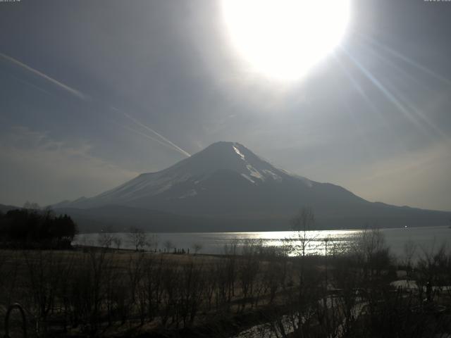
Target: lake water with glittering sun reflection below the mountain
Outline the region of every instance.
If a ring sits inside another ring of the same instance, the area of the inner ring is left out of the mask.
[[[307,232],[308,253],[325,253],[325,239],[328,239],[328,249],[335,246],[349,246],[355,242],[364,230],[320,230]],[[431,251],[441,244],[451,245],[451,229],[448,227],[408,227],[380,230],[385,242],[390,246],[393,254],[404,256],[404,245],[412,241],[416,244],[416,252]],[[128,233],[115,233],[113,237],[121,238],[122,249],[134,249]],[[248,239],[261,240],[264,246],[283,246],[284,243],[299,243],[296,241],[297,233],[291,231],[277,232],[183,232],[183,233],[155,233],[147,234],[148,249],[157,248],[163,251],[165,244],[171,242],[178,249],[190,249],[193,252],[194,244],[202,246],[200,253],[224,253],[224,247],[233,242],[240,247]],[[79,234],[73,244],[99,246],[101,234]],[[286,239],[289,239],[287,241]],[[114,246],[114,244],[113,244]],[[168,246],[168,245],[166,245]],[[173,249],[171,249],[172,251]]]

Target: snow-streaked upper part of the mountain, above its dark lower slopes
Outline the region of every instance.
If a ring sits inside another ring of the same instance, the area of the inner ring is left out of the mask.
[[[108,204],[130,205],[155,196],[164,199],[189,199],[209,189],[206,182],[220,174],[241,177],[240,184],[254,186],[294,178],[240,143],[216,142],[169,168],[156,173],[143,173],[119,187],[91,199],[83,199],[80,203],[74,201],[70,205],[82,208]],[[300,178],[306,186],[311,184],[309,180]],[[299,177],[295,179],[299,180]]]

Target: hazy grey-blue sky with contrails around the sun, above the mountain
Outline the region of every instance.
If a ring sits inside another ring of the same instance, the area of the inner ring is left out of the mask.
[[[450,18],[449,1],[354,1],[341,46],[275,82],[212,0],[0,2],[0,203],[93,196],[223,140],[451,211]]]

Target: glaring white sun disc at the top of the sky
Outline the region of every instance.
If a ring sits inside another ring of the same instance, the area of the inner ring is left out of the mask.
[[[297,80],[345,34],[350,0],[222,0],[237,53],[249,67]]]

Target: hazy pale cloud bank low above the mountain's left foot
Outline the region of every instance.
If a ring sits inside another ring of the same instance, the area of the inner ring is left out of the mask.
[[[47,132],[11,127],[0,135],[0,203],[52,204],[94,196],[138,175],[92,154],[85,140],[61,142]]]

